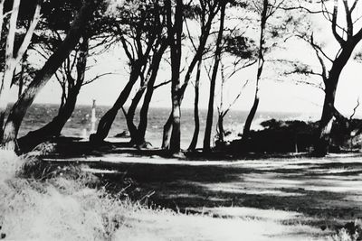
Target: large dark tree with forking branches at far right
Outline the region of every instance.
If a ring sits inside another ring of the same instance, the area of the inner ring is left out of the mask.
[[[331,1],[330,1],[331,2]],[[330,30],[334,40],[338,43],[338,50],[334,57],[325,51],[322,46],[316,42],[315,34],[299,33],[298,36],[310,43],[313,51],[315,51],[320,64],[320,71],[315,72],[310,69],[302,70],[302,72],[319,76],[324,83],[324,101],[322,115],[319,121],[319,128],[316,134],[316,142],[314,145],[314,153],[323,156],[328,153],[330,142],[330,127],[333,117],[337,119],[347,119],[343,117],[335,107],[336,91],[338,87],[339,77],[342,70],[348,63],[353,51],[358,42],[362,39],[362,28],[357,27],[357,21],[360,16],[356,15],[358,0],[333,0],[332,3],[322,0],[319,2],[319,10],[311,10],[309,7],[299,5],[288,9],[301,9],[309,14],[321,14],[330,24]],[[351,5],[350,5],[351,4]],[[331,8],[331,9],[330,9]],[[340,8],[343,8],[343,13],[340,13]],[[344,21],[341,21],[344,19]]]

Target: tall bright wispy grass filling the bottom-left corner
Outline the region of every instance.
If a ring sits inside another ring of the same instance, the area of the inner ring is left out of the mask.
[[[79,167],[44,168],[36,159],[0,153],[0,238],[111,240],[137,203],[95,189]]]

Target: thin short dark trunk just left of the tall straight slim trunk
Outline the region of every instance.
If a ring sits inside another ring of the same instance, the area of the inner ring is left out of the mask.
[[[189,151],[195,151],[197,146],[198,134],[200,132],[200,117],[198,116],[198,100],[199,100],[199,86],[200,86],[200,75],[201,75],[201,64],[202,60],[198,61],[197,64],[197,73],[195,79],[195,103],[194,103],[194,121],[195,121],[195,129],[193,138],[191,140],[191,144],[188,147]]]

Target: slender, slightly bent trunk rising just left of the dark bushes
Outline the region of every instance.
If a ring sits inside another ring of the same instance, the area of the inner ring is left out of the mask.
[[[262,4],[262,20],[261,20],[261,34],[260,34],[260,42],[259,42],[259,53],[258,53],[258,72],[256,75],[256,86],[255,86],[255,95],[254,101],[252,103],[252,109],[249,112],[249,115],[246,118],[245,125],[243,126],[243,138],[242,143],[247,142],[250,135],[250,128],[252,126],[252,120],[256,114],[256,111],[259,107],[259,82],[262,77],[262,68],[264,66],[264,32],[265,25],[267,20],[267,12],[269,7],[269,1],[263,0]]]

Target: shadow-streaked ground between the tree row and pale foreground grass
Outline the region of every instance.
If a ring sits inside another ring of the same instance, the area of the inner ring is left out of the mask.
[[[130,178],[138,199],[149,194],[148,204],[156,207],[306,225],[321,233],[362,218],[359,156],[193,162],[114,154],[87,162],[88,171],[103,172],[98,175],[109,188]]]

